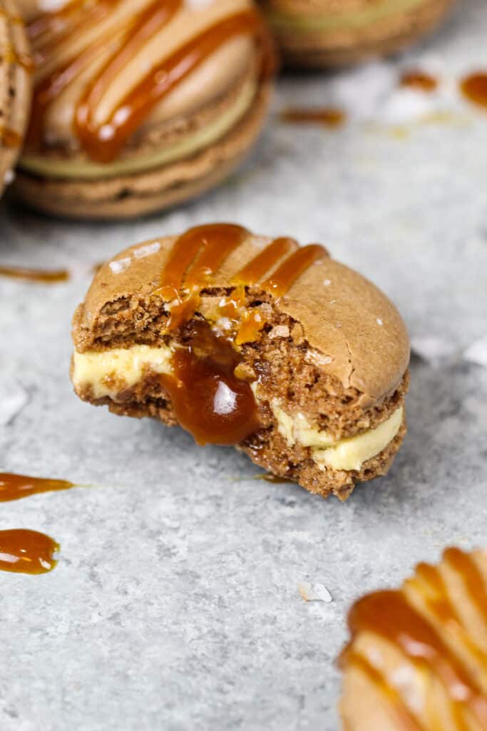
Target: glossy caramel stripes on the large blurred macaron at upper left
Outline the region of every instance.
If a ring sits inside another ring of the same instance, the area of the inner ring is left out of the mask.
[[[34,58],[39,64],[45,64],[70,33],[80,34],[85,27],[104,18],[118,3],[120,0],[101,0],[91,7],[89,2],[73,0],[58,12],[40,16],[28,29],[37,51]],[[86,11],[85,7],[88,7]],[[254,9],[235,12],[218,20],[150,69],[112,110],[109,118],[101,123],[97,121],[96,110],[107,88],[116,82],[150,37],[168,25],[182,8],[183,0],[156,0],[116,31],[120,34],[118,47],[88,82],[74,112],[74,132],[81,148],[93,161],[108,164],[117,159],[153,108],[229,39],[247,34],[266,37],[261,16]],[[107,39],[99,39],[37,85],[28,132],[29,146],[42,145],[47,107],[101,53],[106,52],[106,46]]]

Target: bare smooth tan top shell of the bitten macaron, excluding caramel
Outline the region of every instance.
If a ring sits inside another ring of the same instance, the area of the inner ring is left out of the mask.
[[[118,300],[150,301],[176,242],[169,237],[133,246],[99,270],[85,298],[79,349],[93,346],[90,333],[96,333],[104,308]],[[239,246],[212,274],[211,287],[228,290],[237,273],[271,243],[270,238],[245,232]],[[293,244],[296,248],[272,262],[262,280],[290,259],[298,248]],[[299,322],[323,370],[345,388],[356,388],[367,408],[393,393],[402,381],[410,354],[407,330],[377,287],[322,251],[278,298],[277,306]],[[261,284],[256,282],[253,289],[258,292]]]

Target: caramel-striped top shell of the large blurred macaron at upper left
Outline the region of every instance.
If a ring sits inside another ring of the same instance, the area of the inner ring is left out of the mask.
[[[109,164],[154,129],[188,118],[246,78],[256,86],[261,18],[251,0],[21,0],[37,61],[27,155]]]

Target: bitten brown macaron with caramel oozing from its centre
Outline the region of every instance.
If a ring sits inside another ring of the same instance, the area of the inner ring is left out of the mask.
[[[318,244],[209,224],[134,246],[96,274],[73,339],[83,400],[323,497],[385,474],[406,432],[404,323]]]

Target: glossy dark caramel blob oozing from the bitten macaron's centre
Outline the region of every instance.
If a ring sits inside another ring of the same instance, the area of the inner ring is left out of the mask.
[[[205,322],[192,322],[187,336],[172,358],[174,376],[159,376],[177,421],[198,444],[238,444],[259,428],[250,384],[234,375],[239,355]]]

